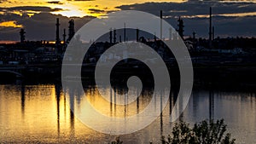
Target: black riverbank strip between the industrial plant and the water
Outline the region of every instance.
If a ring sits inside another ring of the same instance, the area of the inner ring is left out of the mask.
[[[12,66],[14,67],[14,66]],[[22,68],[0,72],[2,84],[14,84],[17,80],[28,84],[52,84],[61,83],[61,65],[33,65],[20,66]],[[0,66],[3,69],[3,66]],[[255,89],[256,66],[254,65],[194,65],[194,87],[206,89]],[[72,69],[72,68],[71,68]],[[179,71],[177,66],[168,68],[172,87],[179,85]],[[13,72],[11,72],[13,71]],[[82,79],[84,85],[94,85],[94,65],[82,67]],[[17,74],[17,73],[20,73]],[[137,75],[143,81],[143,85],[152,86],[154,78],[147,67],[117,66],[111,73],[111,83],[124,85],[127,78]]]

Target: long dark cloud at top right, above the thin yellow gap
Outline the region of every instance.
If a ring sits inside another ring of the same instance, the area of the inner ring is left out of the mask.
[[[214,14],[232,14],[256,12],[256,3],[224,3],[219,1],[188,1],[185,3],[141,3],[116,7],[122,10],[142,10],[151,14],[159,14],[160,9],[166,15],[208,14],[212,7]]]

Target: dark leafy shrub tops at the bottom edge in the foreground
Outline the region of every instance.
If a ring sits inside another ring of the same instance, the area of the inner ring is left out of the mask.
[[[210,120],[202,121],[199,124],[195,124],[191,129],[189,124],[180,122],[174,124],[172,128],[172,136],[168,135],[161,137],[162,144],[235,144],[235,139],[231,139],[230,133],[225,134],[227,125],[224,124],[224,119],[217,120],[214,123]],[[119,137],[111,144],[122,144],[123,141],[119,140]],[[150,143],[152,144],[152,142]]]

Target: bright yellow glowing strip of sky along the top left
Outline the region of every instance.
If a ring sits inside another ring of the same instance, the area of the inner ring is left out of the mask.
[[[12,7],[49,7],[51,9],[61,9],[60,11],[50,12],[51,14],[61,14],[67,17],[84,17],[84,16],[101,16],[106,14],[109,11],[119,10],[116,7],[126,4],[134,3],[148,3],[148,2],[174,2],[174,3],[183,3],[187,1],[183,0],[130,0],[130,1],[105,1],[105,0],[59,0],[59,1],[47,1],[47,0],[25,0],[22,2],[17,2],[15,0],[10,0],[9,2],[0,3],[2,8],[12,8]],[[94,11],[93,9],[96,9]],[[20,14],[19,11],[14,12]],[[28,13],[28,14],[34,14]]]

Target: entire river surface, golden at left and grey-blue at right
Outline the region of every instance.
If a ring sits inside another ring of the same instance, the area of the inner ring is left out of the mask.
[[[108,143],[117,135],[102,134],[85,126],[69,108],[60,84],[0,85],[0,143]],[[95,87],[84,89],[93,107],[109,116],[126,117],[141,112],[151,100],[140,96],[134,106],[115,107],[102,100]],[[160,143],[160,135],[172,132],[170,113],[174,93],[164,112],[143,130],[119,135],[124,143]],[[74,101],[75,111],[84,99]],[[79,105],[78,105],[79,103]],[[179,120],[193,125],[204,119],[224,118],[236,143],[256,143],[256,95],[253,92],[196,89]],[[104,124],[102,124],[104,125]]]

